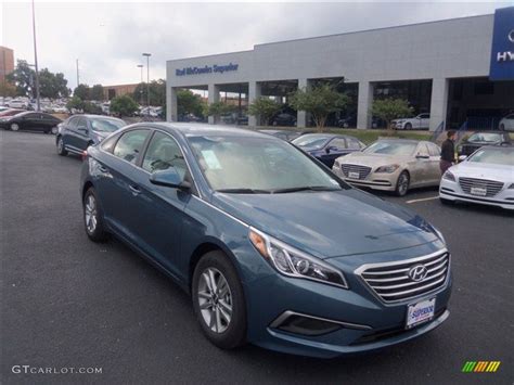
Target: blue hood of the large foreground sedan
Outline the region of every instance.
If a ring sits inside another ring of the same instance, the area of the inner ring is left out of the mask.
[[[438,239],[411,210],[357,189],[287,194],[213,194],[233,217],[318,258],[412,247]]]

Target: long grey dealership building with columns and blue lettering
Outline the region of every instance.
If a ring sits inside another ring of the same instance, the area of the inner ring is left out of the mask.
[[[374,100],[401,98],[429,128],[497,128],[514,112],[514,7],[496,14],[257,44],[250,51],[167,62],[167,117],[178,120],[177,91],[208,92],[209,103],[237,95],[286,105],[297,88],[330,82],[350,97],[344,114],[371,128]],[[309,125],[298,111],[297,126]],[[214,124],[215,118],[209,117]],[[250,126],[259,118],[249,116]],[[470,127],[475,128],[475,127]]]

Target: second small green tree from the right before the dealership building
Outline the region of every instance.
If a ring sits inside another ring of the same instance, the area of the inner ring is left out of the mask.
[[[318,131],[323,131],[329,114],[344,110],[350,99],[337,92],[330,85],[319,85],[307,89],[298,89],[291,95],[290,104],[296,111],[305,111],[312,115]]]

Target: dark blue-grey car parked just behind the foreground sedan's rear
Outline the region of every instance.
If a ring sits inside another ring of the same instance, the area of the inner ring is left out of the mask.
[[[100,143],[112,132],[127,124],[118,118],[103,115],[74,115],[63,121],[55,137],[57,154],[68,152],[82,154],[91,144]]]

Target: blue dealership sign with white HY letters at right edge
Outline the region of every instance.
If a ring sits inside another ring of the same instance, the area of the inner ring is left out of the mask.
[[[514,7],[494,12],[489,78],[514,80]]]

